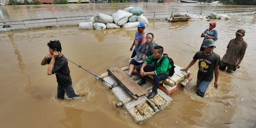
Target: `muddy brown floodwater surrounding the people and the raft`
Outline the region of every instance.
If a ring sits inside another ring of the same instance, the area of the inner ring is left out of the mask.
[[[130,4],[146,11],[199,8],[244,8],[201,4]],[[64,16],[88,10],[114,12],[129,4],[68,4],[41,6],[6,6],[8,19]],[[89,8],[90,7],[90,8]],[[178,8],[180,7],[180,8]],[[2,7],[1,7],[2,8]],[[55,11],[52,11],[55,10]],[[27,12],[27,13],[25,13]],[[35,12],[30,15],[30,12]],[[44,15],[40,15],[43,12]],[[40,16],[39,16],[40,15]],[[77,14],[78,15],[78,14]],[[69,62],[77,100],[56,99],[56,78],[47,76],[47,66],[40,62],[48,54],[46,43],[58,39],[63,54],[83,68],[100,75],[112,66],[127,66],[129,48],[137,28],[79,30],[77,27],[0,33],[0,128],[255,128],[256,127],[256,16],[230,16],[213,20],[219,40],[214,52],[225,54],[229,40],[239,28],[246,30],[248,48],[236,73],[219,73],[219,88],[210,84],[206,97],[195,94],[197,64],[191,67],[192,82],[171,96],[168,108],[137,124],[125,109],[116,108],[118,99],[91,74]],[[146,33],[165,48],[175,64],[185,67],[199,50],[201,33],[209,21],[167,23],[150,21]]]

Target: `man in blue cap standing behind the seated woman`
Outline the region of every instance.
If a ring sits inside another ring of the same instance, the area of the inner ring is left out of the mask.
[[[139,23],[137,27],[138,27],[138,31],[135,34],[135,39],[130,48],[130,51],[132,51],[133,46],[135,46],[133,53],[131,55],[131,58],[133,58],[137,54],[137,50],[139,46],[141,46],[144,42],[146,42],[146,34],[144,32],[146,25],[144,23]]]

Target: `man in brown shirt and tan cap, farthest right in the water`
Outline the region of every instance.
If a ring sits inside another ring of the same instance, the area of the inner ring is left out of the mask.
[[[226,67],[228,67],[227,71],[235,72],[237,68],[240,68],[240,63],[242,62],[247,49],[247,43],[243,39],[244,36],[245,30],[238,29],[236,38],[229,41],[226,54],[221,59],[221,64],[219,66],[220,70],[225,70]]]

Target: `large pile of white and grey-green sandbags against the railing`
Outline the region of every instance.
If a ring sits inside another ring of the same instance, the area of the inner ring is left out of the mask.
[[[106,28],[137,27],[140,22],[148,24],[147,18],[142,15],[143,13],[144,11],[138,7],[128,7],[124,10],[118,10],[111,16],[98,13],[90,19],[90,22],[79,23],[78,28],[104,30]]]

